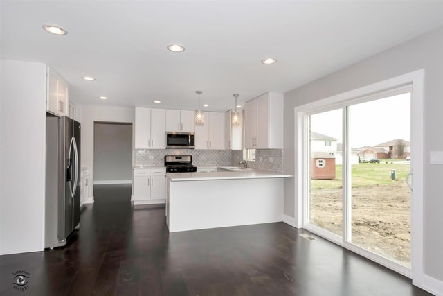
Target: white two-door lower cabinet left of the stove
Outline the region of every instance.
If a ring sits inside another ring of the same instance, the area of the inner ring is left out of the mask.
[[[134,204],[160,204],[166,200],[165,168],[134,168],[131,201]]]

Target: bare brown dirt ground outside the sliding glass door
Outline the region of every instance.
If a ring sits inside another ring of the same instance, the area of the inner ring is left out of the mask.
[[[312,189],[310,222],[342,235],[341,189]],[[352,243],[410,267],[410,191],[404,182],[352,189]]]

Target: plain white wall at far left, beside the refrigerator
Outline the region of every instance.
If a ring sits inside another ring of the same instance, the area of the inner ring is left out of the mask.
[[[44,249],[46,65],[1,60],[0,255]]]

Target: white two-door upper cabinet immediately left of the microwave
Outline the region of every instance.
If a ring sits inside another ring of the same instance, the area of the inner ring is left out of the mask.
[[[136,149],[165,149],[165,110],[136,107]]]

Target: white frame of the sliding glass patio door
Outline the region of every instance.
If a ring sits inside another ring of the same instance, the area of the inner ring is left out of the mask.
[[[295,112],[295,159],[296,159],[296,188],[297,198],[295,202],[296,211],[296,227],[305,228],[305,218],[307,212],[305,209],[305,197],[308,193],[307,178],[309,162],[306,159],[307,146],[309,143],[305,141],[305,134],[307,134],[307,112],[313,112],[316,110],[327,110],[328,106],[334,105],[339,107],[341,104],[349,103],[350,101],[359,101],[359,98],[371,96],[377,93],[387,94],[390,90],[399,89],[405,86],[411,87],[411,160],[410,171],[413,172],[412,184],[413,192],[411,192],[411,269],[396,269],[391,265],[387,266],[386,259],[382,257],[377,259],[371,259],[384,265],[388,268],[411,277],[413,284],[420,288],[424,288],[424,266],[423,266],[423,252],[424,252],[424,219],[423,219],[423,173],[424,173],[424,69],[419,69],[410,73],[406,73],[401,76],[390,78],[376,82],[372,85],[353,89],[343,94],[330,96],[323,98],[312,103],[300,105],[294,108]],[[384,96],[386,97],[386,96]],[[314,233],[319,233],[318,229],[309,229]],[[360,250],[360,248],[353,247],[350,243],[343,243],[343,238],[338,239],[338,236],[320,234],[338,245],[345,247],[353,252],[361,254],[361,256],[368,257],[368,252]]]

